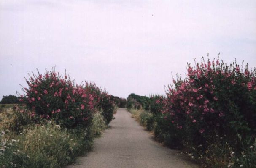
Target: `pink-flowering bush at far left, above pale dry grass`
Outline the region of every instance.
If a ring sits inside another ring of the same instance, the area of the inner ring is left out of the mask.
[[[53,119],[67,128],[85,127],[92,120],[95,99],[89,85],[75,85],[70,77],[55,71],[33,74],[26,79],[23,101],[32,111],[31,116]]]

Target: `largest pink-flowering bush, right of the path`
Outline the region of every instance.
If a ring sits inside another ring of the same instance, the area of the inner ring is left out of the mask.
[[[164,113],[172,126],[166,132],[181,132],[176,141],[200,146],[201,151],[216,137],[225,137],[241,150],[237,135],[256,135],[255,68],[202,58],[195,67],[188,64],[187,70],[186,79],[173,80],[175,85],[167,92]]]

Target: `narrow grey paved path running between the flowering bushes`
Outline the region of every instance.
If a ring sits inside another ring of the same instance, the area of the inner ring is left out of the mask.
[[[198,168],[152,139],[124,108],[94,142],[94,150],[66,168]]]

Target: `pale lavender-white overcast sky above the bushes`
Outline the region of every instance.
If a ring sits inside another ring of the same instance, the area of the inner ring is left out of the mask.
[[[256,0],[0,0],[0,99],[31,71],[165,94],[204,56],[256,67]]]

